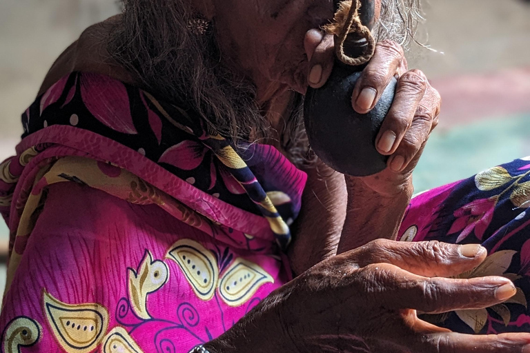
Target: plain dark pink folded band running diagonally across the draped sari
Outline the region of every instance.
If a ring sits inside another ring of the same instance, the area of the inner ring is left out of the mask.
[[[29,148],[43,143],[52,143],[58,145],[57,147],[71,148],[93,159],[110,162],[144,179],[159,190],[166,192],[215,222],[246,234],[258,236],[261,239],[275,241],[270,225],[262,216],[236,208],[215,198],[215,196],[195,188],[157,163],[150,161],[139,152],[112,139],[73,126],[52,125],[25,137],[15,148],[17,156]],[[84,149],[80,150],[79,147]],[[45,152],[39,153],[38,157],[43,159],[79,155],[78,153],[65,153],[62,156],[57,154],[47,156]],[[22,185],[19,183],[17,189],[21,187]],[[14,194],[17,194],[17,192],[15,191]],[[13,205],[16,205],[16,200],[14,200]]]

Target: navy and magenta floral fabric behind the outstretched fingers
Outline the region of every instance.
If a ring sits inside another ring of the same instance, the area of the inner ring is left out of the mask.
[[[530,158],[516,159],[458,183],[413,198],[401,241],[481,243],[486,261],[459,278],[505,276],[518,293],[482,310],[459,310],[424,319],[451,330],[495,334],[530,332]]]

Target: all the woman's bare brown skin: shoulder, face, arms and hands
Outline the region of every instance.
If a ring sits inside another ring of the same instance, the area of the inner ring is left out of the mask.
[[[333,17],[331,0],[199,0],[193,5],[215,21],[226,65],[253,80],[264,114],[277,130],[288,114],[291,90],[304,93],[308,85],[320,87],[328,78],[333,40],[318,28]],[[41,92],[72,70],[134,83],[108,60],[104,43],[93,41],[106,37],[108,30],[106,23],[87,30],[57,60]],[[523,346],[530,343],[529,334],[465,336],[416,316],[415,310],[444,312],[500,303],[495,290],[502,285],[507,285],[504,299],[515,294],[510,281],[497,277],[431,278],[474,268],[484,260],[484,249],[372,241],[395,236],[413,191],[411,172],[440,111],[438,92],[422,72],[408,71],[402,48],[389,41],[377,44],[353,92],[353,109],[364,113],[373,108],[393,76],[399,77],[397,94],[377,138],[380,152],[391,156],[389,168],[364,178],[338,173],[322,177],[329,174],[322,163],[318,170],[307,170],[289,254],[300,276],[208,343],[212,353],[527,353]],[[387,131],[395,139],[383,139]]]

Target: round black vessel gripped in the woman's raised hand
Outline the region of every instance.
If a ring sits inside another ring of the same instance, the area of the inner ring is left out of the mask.
[[[365,177],[386,168],[388,157],[375,149],[375,137],[390,110],[397,80],[392,79],[373,110],[358,114],[351,105],[358,70],[335,62],[326,84],[308,89],[304,123],[311,148],[324,163],[337,172]]]

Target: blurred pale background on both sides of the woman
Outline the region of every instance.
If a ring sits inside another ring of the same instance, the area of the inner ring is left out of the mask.
[[[57,55],[116,11],[115,0],[0,1],[0,160],[14,152],[19,116]],[[426,72],[444,104],[415,171],[417,191],[530,154],[529,4],[430,0],[426,17],[438,52],[415,48],[409,65]],[[0,268],[0,288],[4,276]]]

